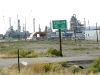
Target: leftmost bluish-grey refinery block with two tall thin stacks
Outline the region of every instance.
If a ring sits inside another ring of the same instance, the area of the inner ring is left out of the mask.
[[[4,35],[5,39],[7,39],[7,40],[23,39],[30,35],[30,33],[28,31],[26,31],[25,29],[23,29],[23,31],[21,32],[21,26],[20,26],[19,19],[17,20],[17,23],[18,23],[17,29],[14,30],[13,26],[11,26],[11,18],[9,18],[9,28]],[[23,28],[25,28],[25,27],[23,27]]]

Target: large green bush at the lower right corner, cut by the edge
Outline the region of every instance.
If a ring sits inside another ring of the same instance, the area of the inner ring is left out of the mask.
[[[100,57],[96,58],[93,64],[88,69],[88,72],[99,72],[100,71]]]

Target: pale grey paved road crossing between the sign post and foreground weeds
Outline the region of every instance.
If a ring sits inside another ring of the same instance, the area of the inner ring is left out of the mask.
[[[80,56],[80,57],[39,57],[39,58],[20,58],[21,61],[25,61],[28,64],[33,62],[60,62],[60,61],[83,61],[83,60],[94,60],[96,57],[87,57],[87,56]],[[11,64],[18,63],[17,58],[11,59],[0,59],[0,69],[10,66]]]

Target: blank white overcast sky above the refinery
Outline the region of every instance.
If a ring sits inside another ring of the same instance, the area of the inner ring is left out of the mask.
[[[100,25],[100,0],[0,0],[0,34],[4,34],[11,25],[17,28],[17,14],[21,26],[27,19],[27,30],[33,32],[33,18],[35,18],[36,31],[42,31],[49,26],[50,20],[69,20],[76,14],[82,23],[84,18],[90,25]],[[32,11],[31,11],[32,10]],[[4,16],[4,17],[3,17]],[[4,19],[4,20],[3,20]],[[86,22],[87,23],[87,22]],[[87,24],[88,26],[88,24]]]

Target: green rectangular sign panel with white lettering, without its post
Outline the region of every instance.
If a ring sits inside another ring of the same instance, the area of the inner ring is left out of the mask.
[[[53,29],[67,28],[67,21],[66,20],[53,20],[52,25],[53,25]]]

